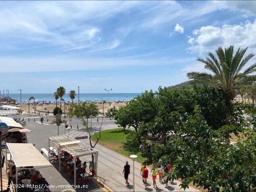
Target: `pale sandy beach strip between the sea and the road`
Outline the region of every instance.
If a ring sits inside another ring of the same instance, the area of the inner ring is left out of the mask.
[[[103,108],[103,106],[102,106],[102,104],[96,104],[97,106],[98,106],[98,109],[100,110],[100,112],[102,113],[102,108]],[[113,102],[113,103],[111,103],[110,105],[109,105],[109,103],[105,103],[104,104],[104,113],[106,113],[107,111],[108,111],[108,109],[109,108],[112,108],[112,107],[116,107],[116,108],[119,108],[120,106],[126,106],[127,104],[126,103],[115,103],[115,102]],[[57,106],[58,107],[61,107],[61,109],[62,109],[62,113],[64,113],[64,104],[62,103],[62,104],[57,104]],[[20,105],[18,105],[17,107],[20,107]],[[34,104],[30,104],[30,113],[31,112],[34,112]],[[43,105],[36,105],[36,110],[39,110],[39,111],[44,111],[44,112],[46,112],[47,113],[47,111],[49,111],[49,113],[52,113],[53,112],[53,110],[54,110],[54,108],[56,107],[56,104],[48,104],[48,105],[46,105],[46,104],[43,104]],[[66,113],[68,113],[68,108],[69,108],[69,105],[65,105],[65,107],[66,107]],[[25,113],[28,113],[28,105],[27,104],[22,104],[21,105],[21,108],[22,108],[22,111],[23,112],[25,112]],[[46,110],[45,110],[45,108],[46,108]]]

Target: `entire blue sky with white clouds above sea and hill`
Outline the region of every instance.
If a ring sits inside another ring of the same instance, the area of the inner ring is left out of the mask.
[[[0,1],[0,90],[176,85],[218,46],[256,53],[255,10],[256,1]]]

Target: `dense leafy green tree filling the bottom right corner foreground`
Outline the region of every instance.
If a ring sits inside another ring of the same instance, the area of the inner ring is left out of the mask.
[[[210,192],[249,192],[256,187],[255,132],[249,130],[248,139],[230,145],[220,130],[207,125],[200,107],[188,117],[180,115],[187,119],[175,127],[182,138],[158,145],[154,152],[159,163],[171,161],[170,180],[182,179],[183,189],[193,182]]]

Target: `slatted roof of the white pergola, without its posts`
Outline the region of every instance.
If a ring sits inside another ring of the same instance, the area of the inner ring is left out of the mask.
[[[49,140],[53,142],[54,146],[60,147],[74,157],[90,155],[98,152],[94,148],[91,148],[68,135],[52,136],[49,137]]]

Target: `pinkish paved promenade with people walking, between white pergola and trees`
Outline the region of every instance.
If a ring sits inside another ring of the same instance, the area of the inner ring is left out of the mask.
[[[77,132],[73,131],[70,133],[71,137],[76,136],[85,136],[87,133],[85,132]],[[88,139],[83,139],[82,142],[89,145]],[[99,162],[98,162],[98,177],[99,180],[104,183],[108,188],[115,192],[127,192],[133,191],[133,161],[128,159],[127,157],[122,156],[119,153],[116,153],[104,146],[97,144],[95,149],[99,151]],[[82,161],[90,161],[90,157],[81,157]],[[122,174],[123,167],[125,165],[125,161],[128,160],[129,165],[131,166],[131,172],[129,175],[129,183],[130,185],[125,184],[125,179]],[[151,169],[148,168],[150,172]],[[183,192],[183,189],[180,189],[181,182],[174,181],[172,183],[169,182],[168,187],[165,187],[165,184],[159,182],[159,178],[157,176],[156,185],[158,188],[153,187],[152,175],[148,174],[148,185],[145,186],[142,183],[142,177],[140,175],[141,172],[141,164],[135,162],[135,191],[173,191],[173,192]],[[199,192],[192,187],[189,187],[185,190],[186,192]]]

